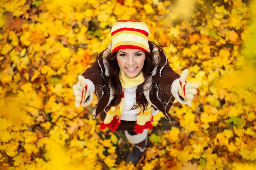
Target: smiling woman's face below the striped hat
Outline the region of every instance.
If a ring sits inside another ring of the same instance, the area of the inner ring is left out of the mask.
[[[145,58],[144,51],[132,48],[118,50],[116,54],[118,66],[129,79],[141,73]]]

